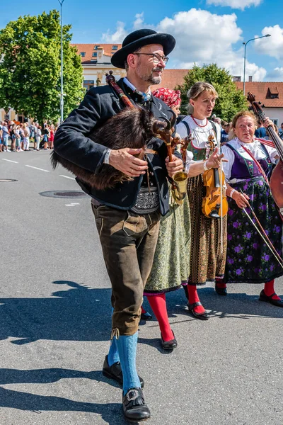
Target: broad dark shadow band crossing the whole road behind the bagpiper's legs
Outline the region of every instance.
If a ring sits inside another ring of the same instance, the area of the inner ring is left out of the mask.
[[[70,289],[54,292],[50,298],[0,299],[0,339],[12,337],[15,340],[11,343],[18,345],[38,339],[108,341],[111,328],[111,289],[88,288],[69,280],[56,280],[53,284]],[[283,318],[282,308],[259,302],[257,295],[229,293],[226,297],[220,297],[213,288],[202,288],[199,294],[204,307],[211,310],[211,317]],[[169,293],[166,300],[169,317],[179,314],[185,315],[187,321],[192,319],[184,307],[186,300],[183,290]],[[156,325],[157,322],[148,324]],[[157,346],[158,342],[153,340],[149,344]]]

